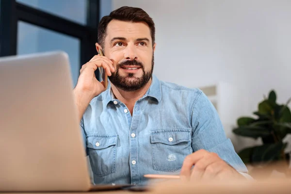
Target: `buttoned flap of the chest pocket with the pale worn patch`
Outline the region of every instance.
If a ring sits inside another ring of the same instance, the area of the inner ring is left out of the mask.
[[[175,145],[189,141],[191,141],[191,130],[188,129],[163,129],[150,132],[151,143]]]

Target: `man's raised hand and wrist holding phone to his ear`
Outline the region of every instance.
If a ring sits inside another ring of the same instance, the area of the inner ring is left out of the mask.
[[[113,62],[107,57],[95,55],[88,63],[82,65],[78,83],[74,88],[75,102],[78,108],[79,121],[83,116],[90,101],[105,91],[103,81],[99,82],[95,77],[95,71],[102,67],[108,76],[114,72]]]

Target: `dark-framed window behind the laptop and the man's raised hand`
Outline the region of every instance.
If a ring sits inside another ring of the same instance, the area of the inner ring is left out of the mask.
[[[63,50],[76,84],[96,54],[99,15],[99,0],[0,0],[0,57]]]

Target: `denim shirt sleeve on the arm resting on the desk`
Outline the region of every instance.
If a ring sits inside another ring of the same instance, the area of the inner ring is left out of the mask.
[[[238,172],[248,172],[230,139],[226,138],[216,109],[203,92],[194,99],[191,125],[194,152],[199,149],[214,152]]]

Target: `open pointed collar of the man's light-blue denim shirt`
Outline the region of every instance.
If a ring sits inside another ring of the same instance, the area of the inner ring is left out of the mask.
[[[162,89],[161,89],[161,82],[160,80],[153,75],[152,76],[152,82],[148,90],[146,91],[146,94],[142,97],[153,97],[155,98],[158,102],[162,100]],[[111,83],[108,81],[108,86],[107,89],[102,92],[98,97],[98,100],[102,100],[106,105],[108,103],[113,102],[114,100],[117,100],[114,98],[113,92],[111,90]],[[119,100],[117,100],[119,102]]]

